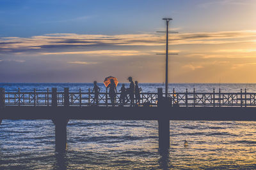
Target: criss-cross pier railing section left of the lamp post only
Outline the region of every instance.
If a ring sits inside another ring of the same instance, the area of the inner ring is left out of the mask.
[[[65,99],[65,96],[68,96]],[[129,95],[127,95],[129,97]],[[68,101],[68,102],[67,102]],[[97,103],[98,101],[98,103]],[[98,99],[95,99],[95,94],[88,90],[87,92],[57,92],[52,89],[47,89],[47,92],[4,92],[5,106],[112,106],[108,92],[99,92]],[[134,106],[156,106],[157,93],[140,93],[140,99],[136,103],[134,98]],[[125,101],[124,104],[120,101],[120,92],[116,94],[115,106],[131,106],[131,99]]]

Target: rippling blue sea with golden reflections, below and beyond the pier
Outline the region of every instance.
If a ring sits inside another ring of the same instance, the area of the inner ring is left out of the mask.
[[[120,90],[122,83],[118,83]],[[125,83],[127,87],[129,84]],[[139,83],[157,92],[162,83]],[[57,87],[88,91],[92,83],[0,83],[6,92]],[[104,84],[99,83],[105,91]],[[176,92],[256,92],[256,84],[175,83]],[[0,113],[1,114],[1,113]],[[22,114],[22,113],[20,113]],[[138,113],[139,114],[139,113]],[[207,114],[207,113],[205,113]],[[243,114],[243,113],[241,113]],[[255,113],[256,114],[256,113]],[[0,169],[255,169],[256,122],[170,121],[170,149],[159,152],[157,121],[70,120],[67,151],[55,151],[51,120],[3,120]],[[184,146],[184,140],[188,145]]]

